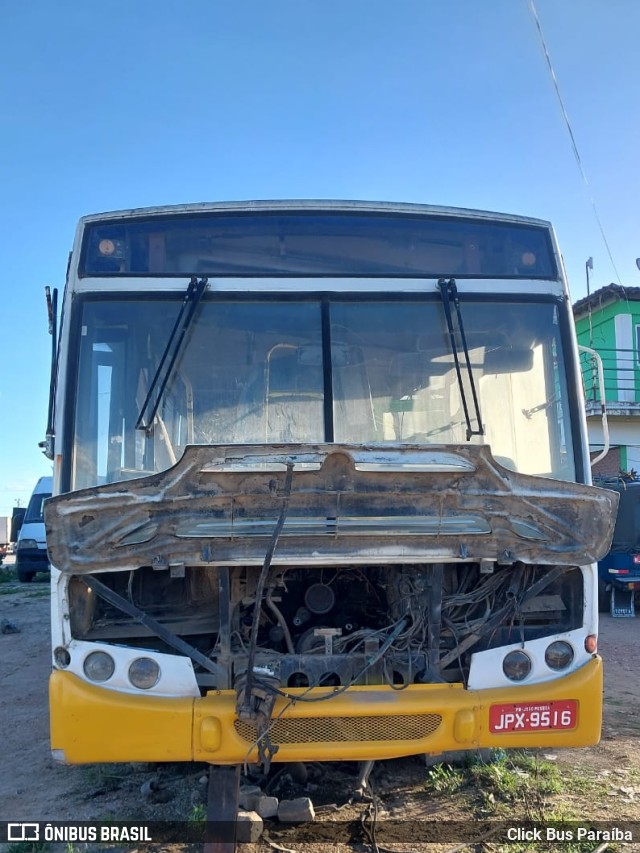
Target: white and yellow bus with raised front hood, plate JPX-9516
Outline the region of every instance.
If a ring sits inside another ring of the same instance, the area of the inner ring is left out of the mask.
[[[598,741],[575,330],[548,222],[252,201],[86,216],[47,450],[53,756]]]

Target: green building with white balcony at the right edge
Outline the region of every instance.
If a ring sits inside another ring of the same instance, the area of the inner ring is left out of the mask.
[[[609,453],[594,474],[640,473],[640,287],[609,284],[573,306],[578,343],[602,359],[609,424]],[[594,359],[581,352],[589,447],[603,448],[600,391]]]

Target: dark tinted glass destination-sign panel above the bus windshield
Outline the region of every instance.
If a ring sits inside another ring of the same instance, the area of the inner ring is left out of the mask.
[[[558,278],[549,230],[437,216],[307,212],[87,225],[81,276]]]

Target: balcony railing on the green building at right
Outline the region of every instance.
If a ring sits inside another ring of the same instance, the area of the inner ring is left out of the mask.
[[[594,347],[595,349],[595,347]],[[597,348],[604,372],[605,402],[611,414],[640,415],[640,363],[632,349]],[[587,414],[600,410],[600,388],[595,360],[580,353],[580,368]]]

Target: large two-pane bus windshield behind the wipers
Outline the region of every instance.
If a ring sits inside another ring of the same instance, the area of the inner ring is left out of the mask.
[[[136,429],[179,305],[84,300],[72,488],[164,470],[188,444],[467,441],[468,378],[442,303],[337,295],[207,297],[153,423]],[[574,479],[555,303],[462,307],[483,421],[473,443],[512,470]]]

